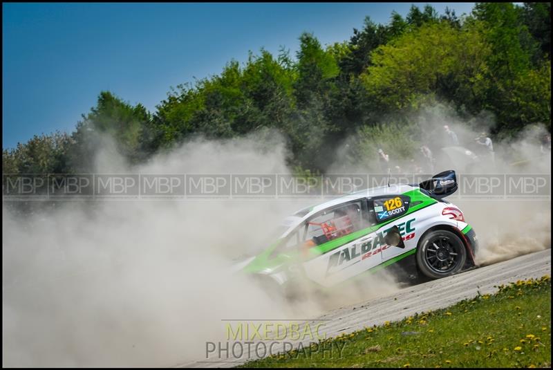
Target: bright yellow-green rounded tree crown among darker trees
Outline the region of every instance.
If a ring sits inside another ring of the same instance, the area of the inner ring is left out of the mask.
[[[379,46],[361,77],[371,100],[388,111],[420,102],[419,96],[427,94],[473,105],[483,89],[488,53],[476,30],[430,23]]]

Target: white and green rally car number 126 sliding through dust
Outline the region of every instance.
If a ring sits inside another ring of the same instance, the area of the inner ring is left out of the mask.
[[[365,189],[299,210],[285,231],[240,269],[283,287],[298,279],[335,287],[382,268],[438,279],[474,266],[476,234],[444,198],[454,171],[418,185]],[[398,268],[399,267],[399,268]]]

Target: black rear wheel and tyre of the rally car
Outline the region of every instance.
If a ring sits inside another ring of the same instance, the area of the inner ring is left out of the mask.
[[[440,279],[459,272],[467,261],[467,250],[456,234],[433,230],[424,235],[417,248],[417,265],[422,274]]]

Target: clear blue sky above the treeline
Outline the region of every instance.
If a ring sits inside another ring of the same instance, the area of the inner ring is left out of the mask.
[[[414,3],[422,8],[425,3]],[[431,3],[457,15],[474,3]],[[349,39],[366,15],[387,23],[411,3],[3,3],[2,147],[73,131],[109,90],[149,110],[169,86],[214,75],[261,47]]]

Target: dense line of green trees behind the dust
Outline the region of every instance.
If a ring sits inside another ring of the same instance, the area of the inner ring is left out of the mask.
[[[346,138],[373,142],[383,125],[411,127],[413,113],[435,102],[461,118],[493,113],[495,137],[534,123],[550,131],[550,19],[550,3],[476,3],[466,17],[412,6],[388,24],[366,17],[341,43],[321,46],[303,33],[295,57],[285,49],[250,53],[243,65],[232,61],[218,75],[171,89],[153,113],[104,91],[73,133],[3,149],[3,173],[91,171],[106,133],[130,163],[141,163],[196,135],[264,129],[283,133],[291,164],[324,171]]]

